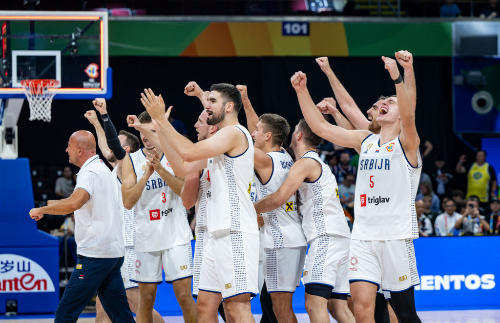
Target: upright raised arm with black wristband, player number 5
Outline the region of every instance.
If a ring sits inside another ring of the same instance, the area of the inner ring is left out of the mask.
[[[396,53],[394,53],[396,54]],[[401,75],[397,69],[396,61],[389,57],[382,56],[384,68],[388,70],[390,77],[394,80],[397,95],[397,107],[399,109],[399,117],[401,119],[401,144],[406,151],[406,157],[410,164],[416,166],[417,150],[420,144],[418,133],[416,132],[415,125],[415,110],[411,103],[410,96],[404,82],[402,82]],[[391,100],[389,97],[388,100]]]

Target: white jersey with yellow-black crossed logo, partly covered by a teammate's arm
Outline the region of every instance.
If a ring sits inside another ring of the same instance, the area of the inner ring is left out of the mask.
[[[260,179],[255,181],[257,199],[264,198],[278,190],[288,176],[288,170],[293,164],[291,156],[285,150],[271,151],[267,154],[272,159],[272,173],[267,182]],[[255,176],[258,178],[258,176]],[[297,210],[297,194],[291,197],[280,207],[267,213],[262,213],[264,226],[260,228],[260,244],[264,248],[280,249],[306,245],[302,231],[302,217]]]

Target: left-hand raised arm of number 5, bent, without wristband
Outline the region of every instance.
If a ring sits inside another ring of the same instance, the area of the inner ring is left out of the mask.
[[[307,90],[305,73],[298,71],[291,77],[291,85],[297,92],[298,103],[305,121],[312,132],[343,147],[360,148],[362,140],[370,134],[368,130],[346,130],[328,123],[316,108]]]

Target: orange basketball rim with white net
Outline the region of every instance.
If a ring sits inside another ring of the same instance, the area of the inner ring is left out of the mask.
[[[24,94],[29,103],[29,120],[50,121],[50,106],[55,92],[49,88],[59,85],[56,79],[23,79],[21,85],[26,88]]]

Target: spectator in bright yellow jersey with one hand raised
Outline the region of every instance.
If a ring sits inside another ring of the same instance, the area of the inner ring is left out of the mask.
[[[465,161],[465,155],[461,155],[455,167],[456,172],[467,172],[463,165]],[[495,170],[486,162],[486,151],[477,150],[475,162],[472,163],[467,172],[467,194],[465,197],[477,196],[479,198],[479,206],[487,211],[489,197],[496,196],[495,190]]]

